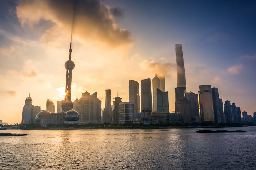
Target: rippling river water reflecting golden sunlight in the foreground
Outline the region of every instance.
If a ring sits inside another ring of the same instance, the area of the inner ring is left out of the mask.
[[[256,169],[256,127],[1,130],[0,169]]]

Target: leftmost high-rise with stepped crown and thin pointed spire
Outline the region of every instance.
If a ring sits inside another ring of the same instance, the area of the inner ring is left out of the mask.
[[[33,114],[32,98],[30,97],[30,93],[29,93],[29,97],[26,98],[25,105],[23,106],[21,123],[25,123],[25,124],[31,123],[32,114]]]

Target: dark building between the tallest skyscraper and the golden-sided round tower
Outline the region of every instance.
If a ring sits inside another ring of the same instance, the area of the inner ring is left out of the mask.
[[[189,101],[190,120],[192,122],[200,122],[198,95],[190,91],[187,93],[187,100]]]

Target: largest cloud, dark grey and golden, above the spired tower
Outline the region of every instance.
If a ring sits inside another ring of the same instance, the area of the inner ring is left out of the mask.
[[[113,23],[114,17],[123,15],[122,9],[110,8],[98,0],[23,0],[16,10],[22,26],[33,27],[42,19],[51,20],[56,24],[53,27],[69,33],[73,29],[73,33],[84,40],[112,47],[132,43],[130,32]]]

